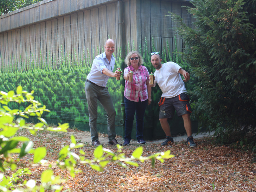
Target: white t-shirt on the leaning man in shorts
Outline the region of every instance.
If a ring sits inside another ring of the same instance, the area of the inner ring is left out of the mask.
[[[186,92],[185,84],[178,73],[180,68],[177,63],[167,62],[155,71],[155,83],[162,90],[162,97],[172,98]]]

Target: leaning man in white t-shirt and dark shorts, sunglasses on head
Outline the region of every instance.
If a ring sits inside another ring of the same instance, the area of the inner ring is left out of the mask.
[[[150,86],[155,87],[155,84],[158,83],[162,90],[162,96],[158,103],[160,106],[159,121],[166,134],[166,141],[161,145],[170,145],[173,143],[168,119],[173,118],[176,110],[177,115],[181,116],[184,121],[184,127],[188,136],[187,144],[190,147],[196,147],[196,143],[192,137],[190,120],[192,111],[184,84],[184,82],[187,82],[190,79],[190,74],[182,69],[177,63],[167,62],[161,64],[161,61],[162,59],[159,52],[151,53],[151,63],[156,71],[154,73],[154,84],[151,84]],[[180,74],[183,75],[184,80],[182,80]],[[151,77],[149,75],[149,80],[150,79]]]

